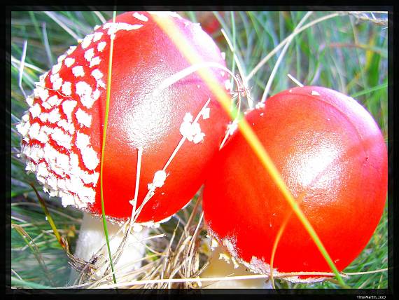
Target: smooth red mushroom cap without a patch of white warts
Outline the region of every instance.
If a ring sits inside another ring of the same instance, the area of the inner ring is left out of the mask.
[[[363,250],[384,210],[387,152],[372,116],[328,88],[283,91],[246,114],[339,271]],[[330,272],[241,132],[214,158],[204,187],[209,233],[254,273]],[[223,214],[221,214],[223,212]],[[287,278],[322,280],[316,275]]]

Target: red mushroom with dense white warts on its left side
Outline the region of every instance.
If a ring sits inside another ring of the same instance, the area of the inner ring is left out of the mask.
[[[225,133],[228,115],[199,75],[159,90],[165,79],[190,66],[157,24],[165,19],[173,20],[193,54],[225,66],[214,41],[176,13],[123,13],[95,27],[41,76],[18,125],[26,170],[62,205],[85,212],[76,247],[85,261],[104,244],[99,176],[111,40],[102,169],[109,226],[130,219],[132,210],[138,224],[157,224],[180,210],[204,182]],[[214,76],[222,86],[228,82],[227,73],[215,71]],[[130,252],[130,261],[141,257],[142,250]]]

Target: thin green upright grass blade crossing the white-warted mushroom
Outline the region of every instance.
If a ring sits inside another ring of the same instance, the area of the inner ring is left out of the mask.
[[[113,20],[112,22],[115,23],[116,19],[116,11],[113,11]],[[109,50],[109,67],[108,67],[108,78],[106,84],[106,102],[105,102],[105,114],[104,114],[104,130],[102,136],[102,153],[101,153],[101,167],[100,167],[100,193],[101,193],[101,206],[102,206],[102,221],[104,226],[104,234],[106,238],[106,247],[109,254],[109,261],[111,264],[112,270],[112,277],[113,283],[116,284],[116,277],[113,269],[113,261],[112,261],[112,254],[111,248],[109,245],[109,236],[108,236],[108,227],[106,225],[106,214],[105,214],[105,207],[104,207],[104,191],[103,191],[103,170],[104,170],[104,154],[105,154],[105,143],[106,143],[106,129],[108,126],[108,115],[109,115],[109,102],[111,100],[111,74],[112,74],[112,56],[113,56],[113,39],[114,36],[111,36],[111,46]]]

